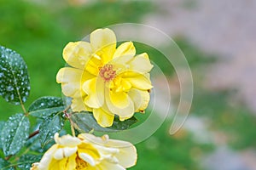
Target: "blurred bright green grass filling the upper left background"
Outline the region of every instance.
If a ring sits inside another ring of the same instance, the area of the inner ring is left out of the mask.
[[[61,53],[67,42],[79,41],[98,27],[138,22],[153,10],[151,3],[143,1],[41,3],[0,1],[0,44],[21,54],[30,72],[32,95],[26,106],[43,95],[61,96],[55,74],[65,65]],[[21,111],[3,99],[0,105],[5,120],[14,111]]]

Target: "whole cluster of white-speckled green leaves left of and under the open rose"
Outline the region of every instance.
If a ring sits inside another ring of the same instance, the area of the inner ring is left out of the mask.
[[[30,79],[25,61],[15,51],[0,46],[0,96],[13,105],[20,105],[23,113],[9,116],[0,122],[0,169],[30,169],[40,161],[54,143],[55,133],[67,133],[66,124],[79,133],[93,130],[117,132],[137,122],[135,117],[113,126],[100,127],[90,112],[73,113],[67,98],[44,96],[36,99],[26,110],[24,103],[30,94]]]

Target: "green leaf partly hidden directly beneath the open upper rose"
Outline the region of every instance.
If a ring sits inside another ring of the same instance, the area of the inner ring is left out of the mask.
[[[75,113],[71,118],[75,127],[81,132],[90,132],[92,129],[98,132],[117,132],[129,128],[132,124],[137,122],[137,119],[134,116],[124,122],[120,122],[119,118],[115,117],[112,127],[101,127],[96,122],[93,115],[88,112]]]

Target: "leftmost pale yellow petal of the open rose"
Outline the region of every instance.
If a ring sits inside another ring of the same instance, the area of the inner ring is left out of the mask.
[[[83,81],[83,71],[71,67],[61,68],[56,81],[61,83],[62,93],[68,97],[81,97],[80,83]]]

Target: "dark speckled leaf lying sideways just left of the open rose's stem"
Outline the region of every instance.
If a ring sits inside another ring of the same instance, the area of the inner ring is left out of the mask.
[[[45,96],[35,100],[29,106],[29,114],[39,118],[45,118],[58,111],[64,111],[63,101],[58,97]]]

